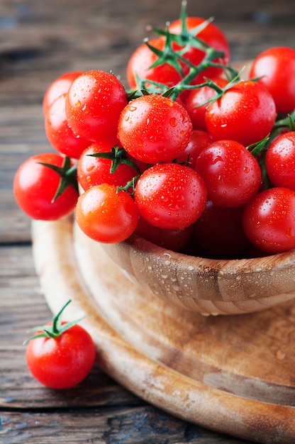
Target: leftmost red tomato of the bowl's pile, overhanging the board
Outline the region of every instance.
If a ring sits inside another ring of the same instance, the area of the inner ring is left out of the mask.
[[[18,206],[33,219],[56,220],[71,213],[78,199],[77,189],[69,185],[52,201],[60,185],[60,175],[40,162],[62,167],[65,157],[43,153],[29,157],[18,168],[13,181],[13,193]]]

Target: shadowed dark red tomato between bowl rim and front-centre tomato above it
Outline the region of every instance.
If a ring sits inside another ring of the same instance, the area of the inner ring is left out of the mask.
[[[192,231],[192,225],[184,228],[184,230],[166,230],[165,228],[155,227],[145,221],[143,217],[140,217],[135,233],[162,248],[179,251],[187,245]]]

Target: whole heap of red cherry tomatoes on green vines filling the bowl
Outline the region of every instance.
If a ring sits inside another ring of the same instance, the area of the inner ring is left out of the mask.
[[[295,248],[295,50],[269,48],[243,79],[211,21],[182,9],[155,32],[128,60],[128,89],[99,70],[52,82],[43,111],[58,154],[21,165],[18,204],[33,218],[75,210],[101,243],[138,233],[212,257]]]

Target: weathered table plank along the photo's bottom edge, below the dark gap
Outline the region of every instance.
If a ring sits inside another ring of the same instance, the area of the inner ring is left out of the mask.
[[[46,413],[1,413],[2,444],[246,444],[226,435],[177,421],[152,406],[114,411],[88,409]]]

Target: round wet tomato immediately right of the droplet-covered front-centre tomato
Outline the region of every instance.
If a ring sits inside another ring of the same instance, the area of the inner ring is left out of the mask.
[[[217,206],[242,206],[260,189],[261,170],[255,157],[235,140],[218,140],[196,160],[208,199]]]

